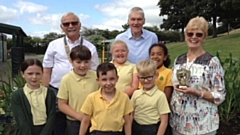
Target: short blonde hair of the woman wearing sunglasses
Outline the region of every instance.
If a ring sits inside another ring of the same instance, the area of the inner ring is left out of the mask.
[[[208,26],[209,24],[205,18],[199,16],[194,17],[188,22],[185,34],[191,30],[202,30],[206,38],[208,36]]]

